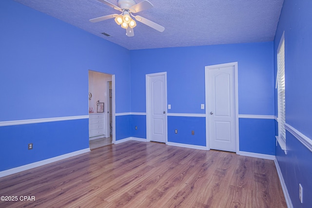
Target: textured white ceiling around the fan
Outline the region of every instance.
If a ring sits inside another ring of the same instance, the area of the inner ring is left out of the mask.
[[[149,0],[154,7],[136,15],[164,26],[165,31],[137,22],[135,36],[127,37],[114,19],[89,21],[119,13],[98,0],[15,1],[130,50],[273,41],[283,4],[283,0]],[[117,0],[109,1],[117,5]]]

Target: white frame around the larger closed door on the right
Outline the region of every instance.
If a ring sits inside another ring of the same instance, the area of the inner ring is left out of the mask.
[[[210,149],[210,138],[209,138],[209,70],[215,68],[223,68],[234,66],[234,86],[235,86],[235,136],[236,136],[236,154],[239,154],[239,127],[238,127],[238,62],[221,63],[215,65],[205,66],[205,103],[206,103],[206,148]]]

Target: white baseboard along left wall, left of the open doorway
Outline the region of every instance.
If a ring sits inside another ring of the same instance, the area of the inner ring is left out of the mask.
[[[78,151],[75,151],[75,152],[70,152],[70,153],[67,153],[67,154],[59,155],[57,157],[53,157],[53,158],[49,158],[49,159],[46,159],[46,160],[41,160],[41,161],[38,161],[38,162],[35,162],[35,163],[27,164],[27,165],[24,165],[24,166],[19,166],[19,167],[14,167],[14,168],[8,169],[8,170],[3,170],[3,171],[0,172],[0,177],[11,175],[11,174],[14,174],[14,173],[18,173],[18,172],[21,172],[21,171],[24,171],[24,170],[28,170],[28,169],[31,169],[31,168],[34,168],[34,167],[43,166],[43,165],[46,165],[46,164],[49,164],[49,163],[53,163],[53,162],[56,162],[56,161],[59,161],[59,160],[70,158],[70,157],[73,157],[73,156],[76,156],[76,155],[79,155],[79,154],[83,154],[83,153],[86,153],[86,152],[89,152],[89,151],[90,151],[90,148],[85,148],[85,149],[81,149],[81,150],[78,150]]]

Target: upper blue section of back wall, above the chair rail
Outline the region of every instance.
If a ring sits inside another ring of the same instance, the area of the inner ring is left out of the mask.
[[[273,42],[132,50],[131,111],[146,112],[145,74],[167,72],[168,113],[205,113],[205,66],[238,62],[239,114],[274,114]]]

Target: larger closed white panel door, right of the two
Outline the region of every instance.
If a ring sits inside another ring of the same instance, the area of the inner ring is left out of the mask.
[[[236,66],[229,63],[206,68],[206,121],[210,149],[236,152]]]

